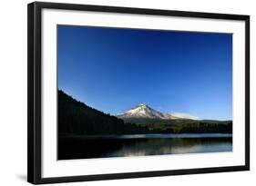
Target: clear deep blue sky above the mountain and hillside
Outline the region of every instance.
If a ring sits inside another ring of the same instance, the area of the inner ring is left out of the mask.
[[[232,34],[58,25],[58,89],[118,114],[232,119]]]

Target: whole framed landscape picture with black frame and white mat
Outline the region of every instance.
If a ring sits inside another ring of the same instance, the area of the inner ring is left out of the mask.
[[[248,171],[249,73],[249,15],[29,4],[27,179]]]

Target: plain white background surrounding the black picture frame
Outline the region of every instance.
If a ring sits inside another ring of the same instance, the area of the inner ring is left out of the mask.
[[[47,0],[45,0],[47,1]],[[27,0],[0,5],[0,185],[26,182],[26,4]],[[62,3],[116,5],[169,10],[251,15],[251,171],[90,181],[61,185],[254,185],[256,181],[256,3],[253,0],[55,0]],[[254,5],[255,4],[255,5]],[[210,161],[210,160],[209,160]],[[113,165],[114,166],[114,165]],[[59,184],[57,184],[59,185]]]

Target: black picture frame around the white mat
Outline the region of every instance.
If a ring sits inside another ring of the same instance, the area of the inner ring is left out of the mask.
[[[185,169],[175,171],[143,171],[97,175],[42,178],[42,115],[41,115],[41,23],[42,9],[79,10],[137,15],[165,15],[210,19],[240,20],[245,22],[245,165]],[[27,6],[27,181],[34,184],[69,181],[99,181],[180,174],[250,170],[250,16],[199,12],[142,9],[100,5],[75,5],[35,2]]]

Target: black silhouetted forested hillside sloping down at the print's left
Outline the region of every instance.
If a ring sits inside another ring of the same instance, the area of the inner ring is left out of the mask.
[[[58,132],[101,134],[122,131],[124,122],[58,91]]]

